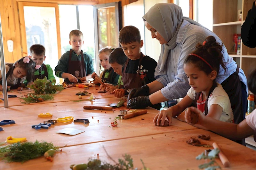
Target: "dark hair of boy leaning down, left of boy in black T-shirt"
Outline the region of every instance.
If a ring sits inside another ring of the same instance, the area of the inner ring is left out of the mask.
[[[116,48],[112,51],[112,53],[109,55],[108,62],[110,64],[118,63],[120,65],[124,65],[126,62],[127,57],[124,54],[124,50],[122,48]]]

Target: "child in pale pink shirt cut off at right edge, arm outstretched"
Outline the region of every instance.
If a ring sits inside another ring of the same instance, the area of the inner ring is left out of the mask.
[[[252,70],[248,76],[248,89],[254,94],[256,94],[255,82],[256,69]],[[201,125],[231,140],[244,139],[254,135],[254,141],[256,142],[256,109],[247,115],[246,119],[239,124],[221,122],[211,117],[203,116],[202,112],[195,107],[190,107],[186,110],[185,120],[191,124]]]

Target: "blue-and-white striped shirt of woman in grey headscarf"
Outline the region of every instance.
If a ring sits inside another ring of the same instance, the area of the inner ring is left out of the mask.
[[[196,26],[183,20],[180,30],[177,35],[177,45],[175,48],[169,51],[169,56],[166,63],[167,74],[160,73],[159,68],[162,62],[162,56],[160,55],[157,67],[155,70],[156,81],[159,81],[164,85],[161,89],[162,94],[168,100],[179,99],[185,97],[190,85],[188,84],[188,78],[183,70],[183,64],[186,57],[196,49],[196,44],[203,43],[208,36],[214,36],[217,42],[221,42],[220,38],[210,30],[207,30],[201,26]],[[219,74],[216,78],[217,83],[221,84],[231,74],[236,72],[236,62],[232,57],[228,55],[226,47],[223,45],[223,56],[226,67],[228,68],[226,74],[225,70],[220,66]],[[164,45],[161,45],[161,49],[164,49]],[[244,75],[244,71],[239,69],[239,78],[247,86],[247,80]],[[248,91],[247,91],[248,92]]]

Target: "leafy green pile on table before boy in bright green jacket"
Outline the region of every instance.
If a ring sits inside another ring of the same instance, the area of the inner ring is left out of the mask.
[[[46,77],[44,79],[37,78],[33,85],[28,85],[28,88],[33,89],[35,91],[34,94],[54,94],[61,92],[64,87],[62,85],[52,85],[55,83],[56,81],[51,83]]]

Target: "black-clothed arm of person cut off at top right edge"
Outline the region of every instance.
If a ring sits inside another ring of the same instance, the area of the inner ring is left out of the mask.
[[[256,47],[256,1],[252,4],[252,9],[248,11],[247,17],[241,28],[241,38],[247,47]]]

